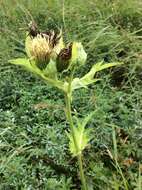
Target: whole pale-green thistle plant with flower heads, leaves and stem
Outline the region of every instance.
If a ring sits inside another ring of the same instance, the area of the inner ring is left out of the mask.
[[[82,190],[87,190],[87,183],[83,171],[82,152],[91,139],[90,130],[86,128],[92,113],[82,120],[73,119],[71,111],[72,93],[79,88],[86,88],[100,79],[95,79],[95,74],[101,70],[116,66],[120,63],[95,63],[90,71],[81,78],[74,77],[75,71],[85,65],[87,54],[80,42],[65,44],[62,32],[40,32],[31,24],[26,34],[26,58],[12,59],[9,62],[21,65],[28,71],[38,75],[65,95],[66,118],[70,126],[69,150],[73,157],[77,157]]]

